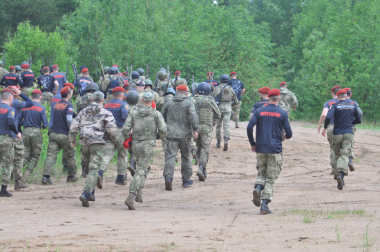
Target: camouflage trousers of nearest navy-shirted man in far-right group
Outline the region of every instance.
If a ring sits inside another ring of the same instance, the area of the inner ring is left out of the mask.
[[[340,171],[347,174],[348,157],[354,141],[353,134],[333,135],[332,142],[334,148],[334,174],[339,175]]]

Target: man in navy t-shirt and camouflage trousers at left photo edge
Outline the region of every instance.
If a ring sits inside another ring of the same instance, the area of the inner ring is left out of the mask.
[[[13,150],[12,134],[21,139],[21,133],[15,124],[15,109],[12,108],[13,90],[4,88],[1,90],[0,103],[0,164],[3,166],[3,176],[1,177],[0,197],[12,197],[8,193],[7,187],[10,184],[10,175],[13,170]],[[0,166],[0,167],[1,167]]]

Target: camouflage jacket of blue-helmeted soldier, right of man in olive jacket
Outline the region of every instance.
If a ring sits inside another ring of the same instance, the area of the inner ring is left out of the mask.
[[[212,127],[213,118],[220,119],[220,110],[213,97],[210,95],[195,95],[190,99],[196,107],[199,124],[209,124]]]

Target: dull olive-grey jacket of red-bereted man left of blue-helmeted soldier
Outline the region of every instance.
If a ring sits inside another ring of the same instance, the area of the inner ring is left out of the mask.
[[[162,108],[167,122],[167,138],[191,138],[198,130],[196,108],[186,95],[177,94]]]

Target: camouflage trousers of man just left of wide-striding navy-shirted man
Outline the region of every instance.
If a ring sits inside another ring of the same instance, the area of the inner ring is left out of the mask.
[[[39,155],[42,150],[42,133],[41,129],[37,127],[23,128],[22,134],[23,146],[25,146],[25,157],[23,159],[26,170],[32,173],[37,166]],[[63,158],[62,158],[63,159]]]

